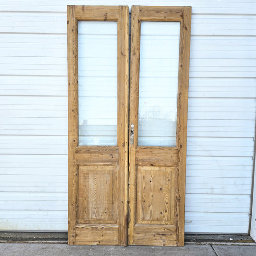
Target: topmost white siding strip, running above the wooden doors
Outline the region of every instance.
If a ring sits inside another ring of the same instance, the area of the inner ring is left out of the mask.
[[[22,5],[19,0],[9,0],[6,3],[1,0],[2,11],[16,11],[16,12],[66,12],[66,6],[68,4],[73,5],[170,5],[169,0],[22,0]],[[193,6],[192,13],[235,13],[235,14],[254,14],[256,9],[256,3],[253,0],[183,0],[172,1],[171,6]]]

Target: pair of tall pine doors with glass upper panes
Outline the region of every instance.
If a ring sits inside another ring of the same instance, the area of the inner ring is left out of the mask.
[[[183,246],[190,23],[133,6],[129,81],[128,6],[68,6],[69,244]]]

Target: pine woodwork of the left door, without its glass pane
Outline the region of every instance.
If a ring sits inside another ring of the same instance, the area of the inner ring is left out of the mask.
[[[117,22],[116,146],[78,146],[77,21]],[[68,6],[67,23],[69,31],[68,243],[127,245],[129,8]]]

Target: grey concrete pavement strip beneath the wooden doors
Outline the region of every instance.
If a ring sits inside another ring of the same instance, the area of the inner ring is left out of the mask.
[[[256,256],[255,245],[87,246],[67,244],[0,244],[1,256]]]

